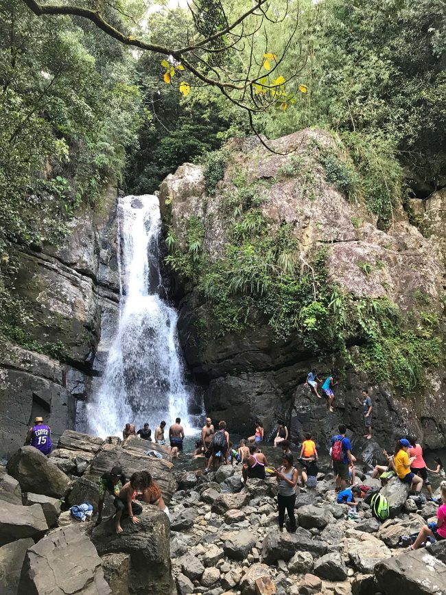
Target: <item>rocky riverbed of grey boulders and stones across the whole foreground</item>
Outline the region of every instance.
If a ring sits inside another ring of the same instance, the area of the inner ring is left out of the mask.
[[[148,447],[161,453],[152,458]],[[89,501],[114,464],[126,476],[148,469],[171,516],[143,505],[139,524],[122,521],[116,535],[113,500],[104,521],[78,522],[69,506]],[[360,481],[379,482],[357,469]],[[328,468],[316,489],[298,489],[296,533],[277,525],[274,478],[242,485],[241,466],[174,471],[165,447],[131,439],[103,441],[67,430],[49,458],[21,447],[0,467],[0,592],[2,595],[445,595],[446,541],[405,552],[399,537],[436,517],[407,487],[384,489],[393,518],[379,523],[366,504],[357,520],[336,503]],[[108,517],[108,518],[107,518]]]

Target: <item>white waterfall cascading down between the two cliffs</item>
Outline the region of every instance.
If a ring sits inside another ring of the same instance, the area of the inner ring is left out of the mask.
[[[192,433],[187,415],[189,390],[185,383],[176,311],[159,293],[161,216],[156,196],[126,196],[118,202],[119,327],[102,384],[87,405],[91,432],[121,434],[125,423],[167,427],[176,417]]]

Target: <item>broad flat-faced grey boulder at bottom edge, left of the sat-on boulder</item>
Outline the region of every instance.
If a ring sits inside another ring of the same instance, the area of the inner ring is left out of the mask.
[[[101,559],[75,526],[51,531],[27,550],[18,595],[110,595]]]

